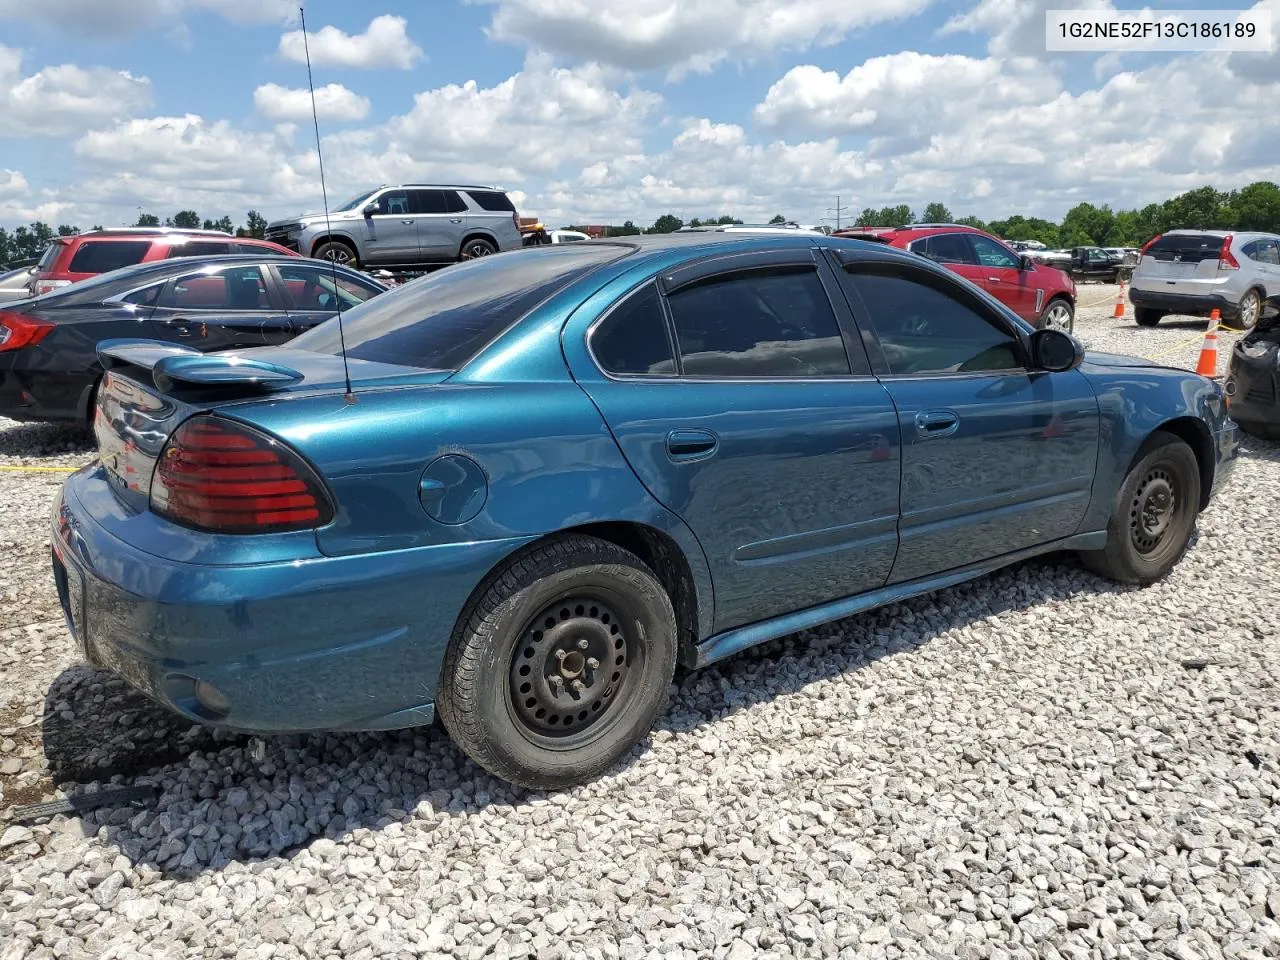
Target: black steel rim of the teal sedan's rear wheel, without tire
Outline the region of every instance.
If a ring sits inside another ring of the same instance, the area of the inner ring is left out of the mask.
[[[535,742],[572,746],[625,700],[634,644],[602,596],[544,607],[521,634],[511,663],[511,703]]]

